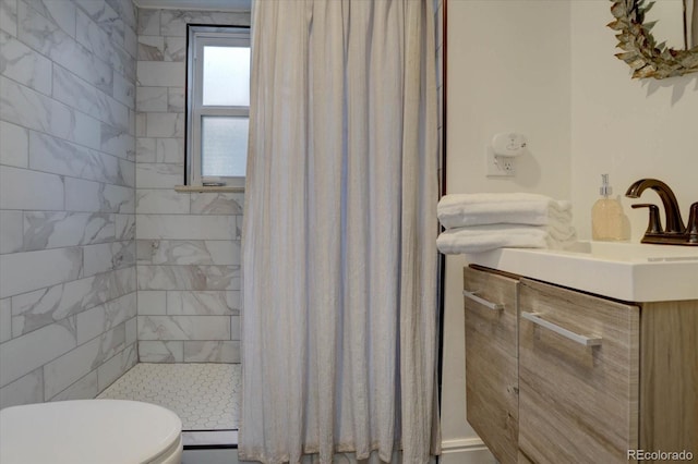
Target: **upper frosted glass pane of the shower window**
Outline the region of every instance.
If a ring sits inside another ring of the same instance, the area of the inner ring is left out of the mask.
[[[250,106],[250,48],[204,47],[204,106]]]

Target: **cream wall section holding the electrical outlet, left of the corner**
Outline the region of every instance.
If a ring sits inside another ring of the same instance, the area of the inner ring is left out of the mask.
[[[447,27],[447,191],[539,192],[569,198],[569,3],[450,0]],[[530,155],[512,180],[485,176],[493,134],[519,131]],[[486,462],[466,422],[460,256],[446,260],[443,462]]]

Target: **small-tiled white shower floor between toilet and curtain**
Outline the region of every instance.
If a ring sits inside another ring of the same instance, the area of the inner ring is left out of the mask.
[[[98,398],[158,404],[182,420],[184,445],[234,445],[239,364],[136,364]]]

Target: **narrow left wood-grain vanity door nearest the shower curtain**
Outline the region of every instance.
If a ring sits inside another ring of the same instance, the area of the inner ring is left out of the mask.
[[[468,422],[502,463],[518,453],[518,281],[465,269]]]

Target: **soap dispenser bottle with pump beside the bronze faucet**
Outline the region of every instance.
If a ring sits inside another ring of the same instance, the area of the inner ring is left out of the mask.
[[[601,174],[600,193],[602,198],[591,208],[591,237],[607,242],[629,240],[630,227],[623,206],[617,199],[610,198],[613,190],[609,185],[609,174]]]

